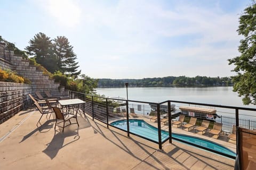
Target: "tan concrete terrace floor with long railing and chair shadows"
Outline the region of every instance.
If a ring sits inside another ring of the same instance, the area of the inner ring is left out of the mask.
[[[40,116],[31,109],[0,124],[0,169],[234,169],[234,159],[176,141],[159,150],[87,114],[63,133],[45,116],[38,128]]]

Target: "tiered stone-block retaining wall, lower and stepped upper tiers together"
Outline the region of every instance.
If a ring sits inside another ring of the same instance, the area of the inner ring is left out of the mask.
[[[0,44],[4,47],[4,44]],[[31,101],[28,94],[35,97],[35,92],[41,92],[45,97],[44,91],[50,91],[53,96],[61,96],[59,83],[55,83],[53,79],[49,79],[48,75],[44,75],[36,66],[30,65],[28,60],[21,56],[15,55],[13,51],[9,51],[10,60],[6,61],[2,53],[0,54],[0,68],[11,69],[19,75],[28,78],[31,84],[0,82],[0,124],[21,111],[25,103]]]

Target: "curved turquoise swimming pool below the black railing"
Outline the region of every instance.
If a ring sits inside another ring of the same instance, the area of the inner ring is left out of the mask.
[[[113,126],[116,126],[119,129],[126,130],[127,131],[127,121],[126,120],[118,120],[115,122],[110,123]],[[153,140],[158,142],[158,130],[154,126],[151,126],[147,122],[143,120],[137,120],[137,119],[130,119],[129,120],[129,127],[130,132],[134,134],[138,134],[141,137]],[[162,141],[165,141],[169,138],[169,133],[167,131],[161,130],[161,137]],[[209,148],[218,152],[221,152],[223,154],[227,154],[230,156],[236,157],[236,153],[231,151],[228,148],[225,148],[218,143],[214,143],[205,139],[191,137],[184,134],[178,134],[178,133],[172,133],[173,138],[177,138],[179,140],[184,140],[188,143],[192,143],[197,146],[201,146],[204,148]]]

